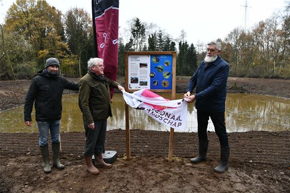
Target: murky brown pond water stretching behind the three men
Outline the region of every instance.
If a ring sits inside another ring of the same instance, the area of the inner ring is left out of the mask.
[[[161,94],[171,98],[171,94]],[[176,98],[182,98],[177,94]],[[130,109],[130,128],[140,130],[170,131],[170,127],[156,122],[141,110]],[[108,118],[108,130],[125,130],[125,102],[121,94],[115,94],[112,103],[113,118]],[[290,131],[290,100],[249,94],[227,94],[226,127],[227,132],[245,131]],[[0,132],[37,132],[37,125],[32,113],[32,126],[25,125],[23,106],[0,113]],[[77,94],[63,96],[63,116],[61,132],[82,132],[82,116],[77,104]],[[209,131],[214,126],[209,121]],[[187,129],[185,132],[197,132],[197,115],[193,103],[188,105]]]

